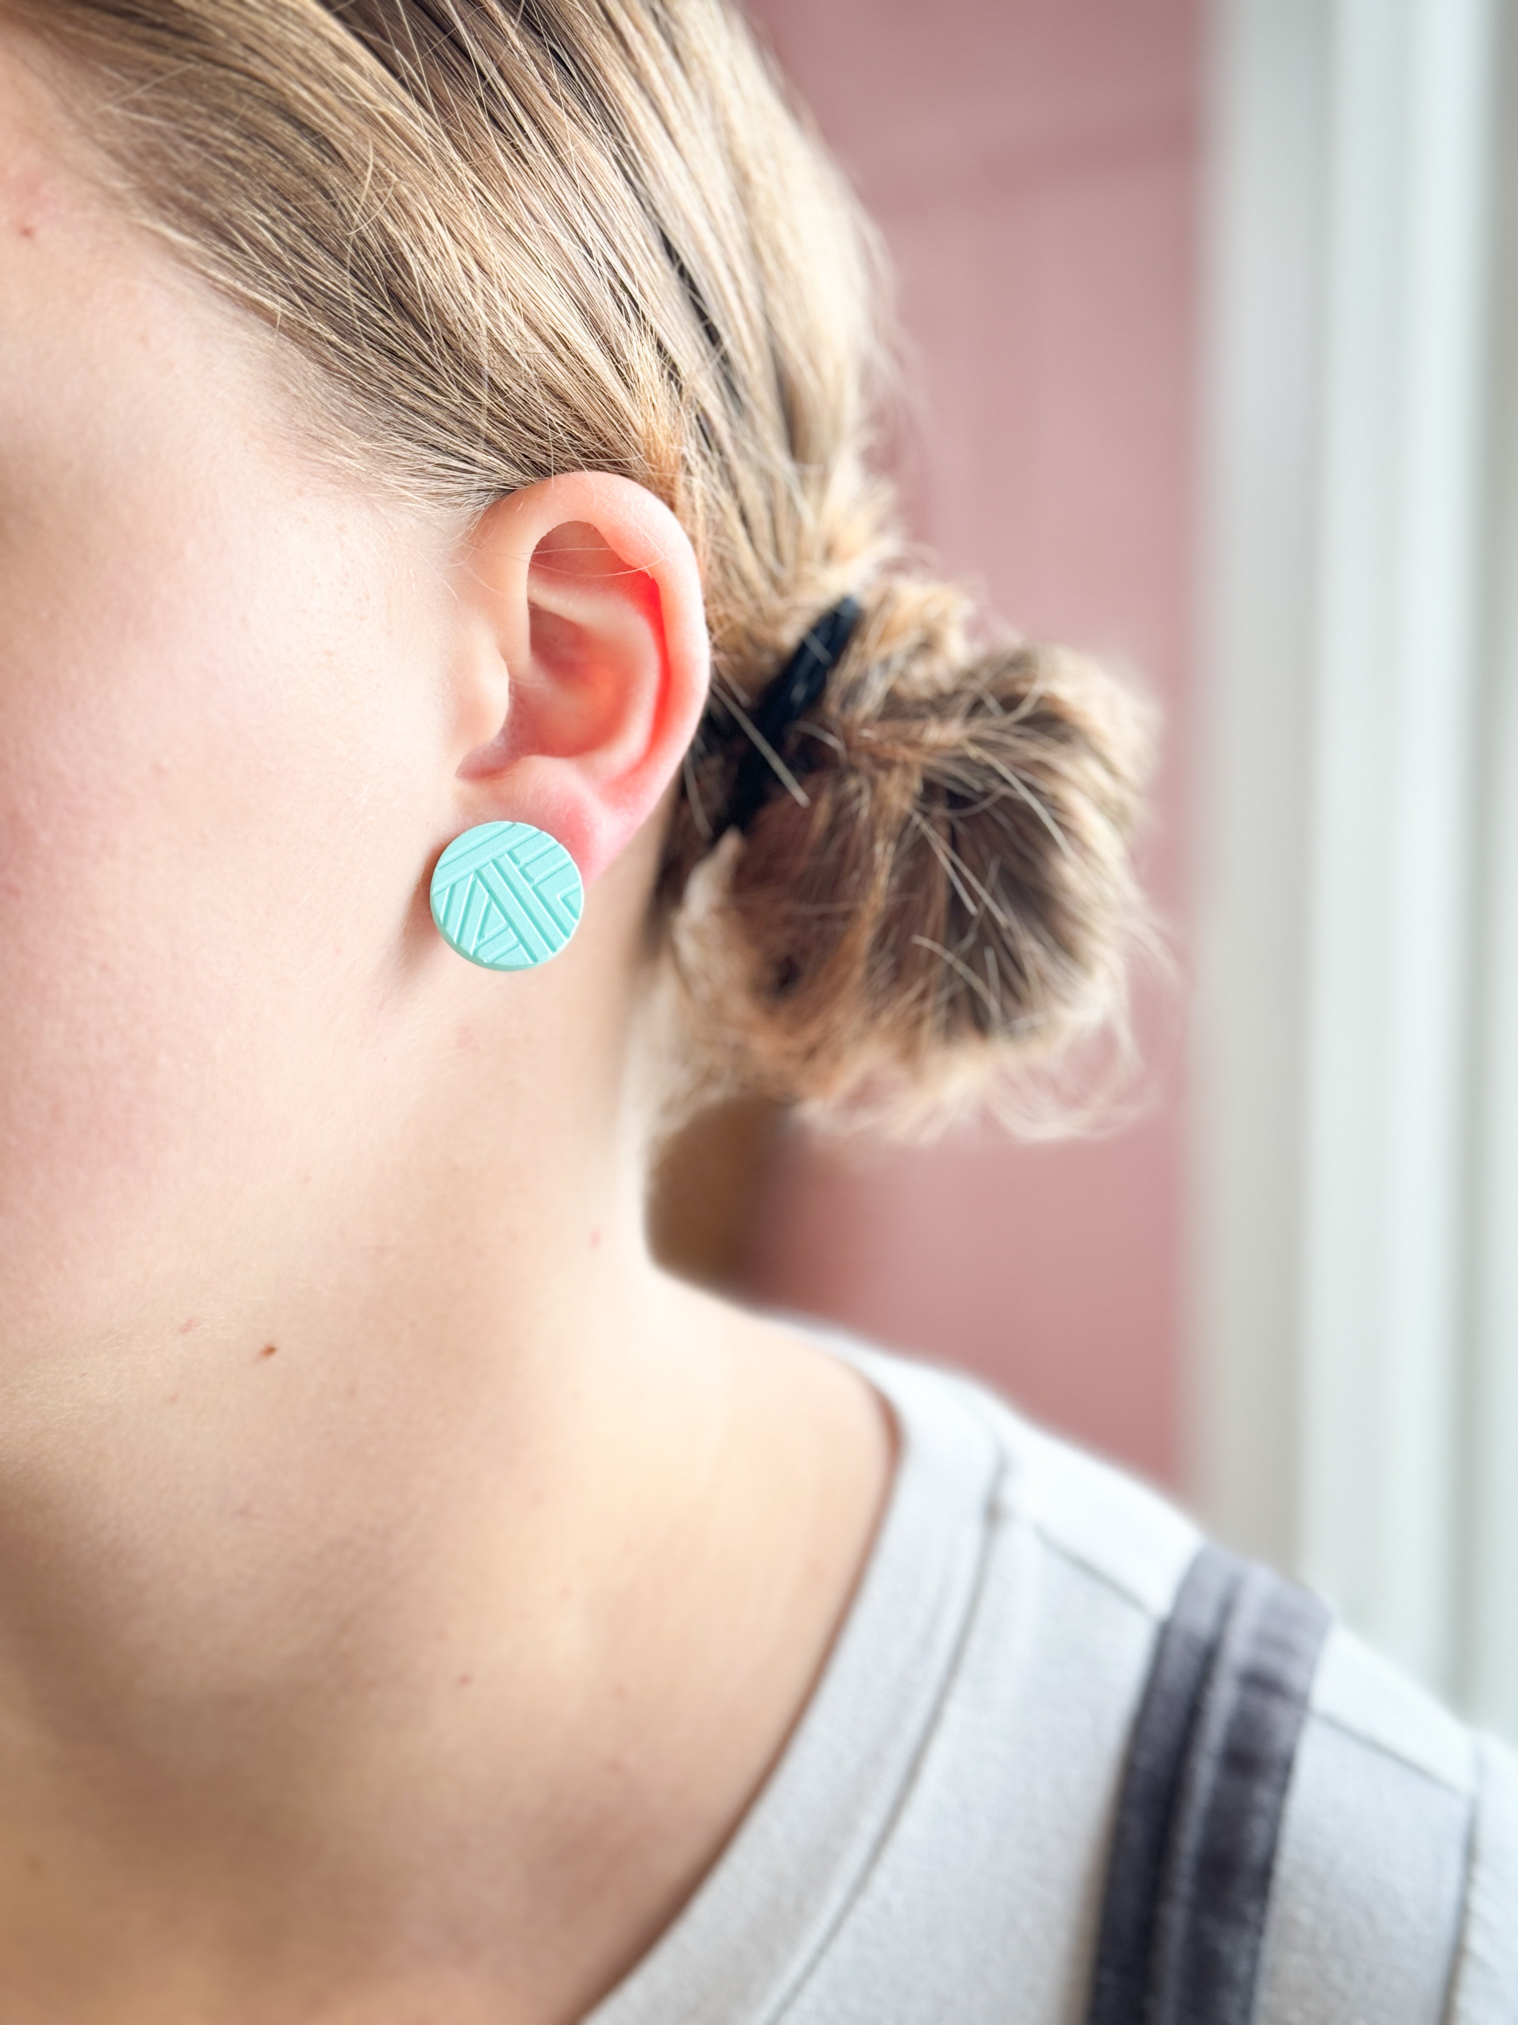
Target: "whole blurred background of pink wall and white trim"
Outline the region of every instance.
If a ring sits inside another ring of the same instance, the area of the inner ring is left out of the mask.
[[[1160,701],[1148,1106],[702,1120],[666,1256],[986,1373],[1518,1735],[1518,0],[749,0],[915,531]]]

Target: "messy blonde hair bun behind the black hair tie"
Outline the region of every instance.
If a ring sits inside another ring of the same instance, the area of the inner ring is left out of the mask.
[[[777,788],[690,881],[676,956],[729,1083],[907,1130],[988,1100],[1026,1124],[1024,1071],[1121,1031],[1150,713],[1067,648],[976,650],[969,618],[887,579],[795,727],[806,806]]]

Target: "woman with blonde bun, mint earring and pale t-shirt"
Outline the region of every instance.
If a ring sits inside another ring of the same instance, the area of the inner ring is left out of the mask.
[[[1214,1563],[644,1247],[704,1094],[1016,1087],[1133,934],[834,170],[725,0],[4,0],[0,164],[6,2025],[1127,2001]],[[1510,1762],[1320,1644],[1249,2005],[1512,2017]]]

